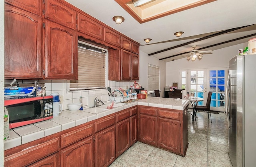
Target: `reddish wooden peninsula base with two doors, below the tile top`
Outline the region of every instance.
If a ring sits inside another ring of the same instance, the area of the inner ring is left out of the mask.
[[[138,106],[138,141],[181,156],[188,147],[187,108]]]

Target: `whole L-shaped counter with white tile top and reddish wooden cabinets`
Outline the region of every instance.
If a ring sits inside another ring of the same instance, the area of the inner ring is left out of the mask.
[[[108,166],[137,140],[185,156],[188,104],[148,97],[97,114],[65,110],[12,130],[4,166]]]

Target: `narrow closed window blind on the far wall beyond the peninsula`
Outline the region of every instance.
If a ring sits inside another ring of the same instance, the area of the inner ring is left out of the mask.
[[[148,64],[148,92],[160,90],[160,67]]]

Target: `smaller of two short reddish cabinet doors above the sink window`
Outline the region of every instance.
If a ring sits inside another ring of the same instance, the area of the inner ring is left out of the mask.
[[[120,47],[121,35],[108,28],[104,28],[104,42]]]

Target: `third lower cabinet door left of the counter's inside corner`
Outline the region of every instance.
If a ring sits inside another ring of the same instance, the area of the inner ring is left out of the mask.
[[[115,126],[95,134],[95,166],[107,167],[115,160]]]

